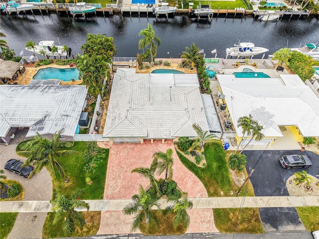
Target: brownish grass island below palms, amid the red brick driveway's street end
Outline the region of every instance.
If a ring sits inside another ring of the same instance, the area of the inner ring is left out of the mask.
[[[164,216],[162,210],[154,210],[154,212],[159,220],[158,227],[152,225],[147,227],[146,224],[143,224],[141,232],[144,235],[182,235],[186,232],[187,228],[182,225],[178,225],[176,229],[173,227],[175,213]]]

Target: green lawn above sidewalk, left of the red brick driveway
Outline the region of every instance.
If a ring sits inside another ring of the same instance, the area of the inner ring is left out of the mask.
[[[69,182],[65,183],[59,174],[56,172],[56,179],[53,180],[53,190],[60,191],[63,195],[70,195],[75,188],[84,189],[85,194],[82,199],[103,199],[104,185],[107,171],[107,164],[109,158],[109,149],[102,149],[106,158],[99,165],[97,165],[96,172],[90,171],[88,174],[83,170],[86,162],[83,159],[83,153],[86,149],[86,142],[75,142],[72,148],[66,148],[78,151],[78,154],[66,155],[57,157],[56,160],[60,162],[69,175]],[[85,182],[86,177],[90,177],[93,181],[92,185]]]

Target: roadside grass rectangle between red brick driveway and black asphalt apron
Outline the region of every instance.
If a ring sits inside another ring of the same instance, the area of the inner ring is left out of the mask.
[[[216,208],[213,212],[216,228],[221,233],[264,233],[258,208]]]

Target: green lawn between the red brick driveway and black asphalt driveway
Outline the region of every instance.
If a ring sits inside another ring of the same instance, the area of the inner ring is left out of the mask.
[[[207,166],[204,168],[197,167],[178,151],[176,152],[184,166],[202,182],[208,197],[220,197],[221,191],[224,192],[224,196],[231,196],[230,191],[233,190],[233,185],[225,159],[226,153],[221,144],[214,143],[205,147]]]

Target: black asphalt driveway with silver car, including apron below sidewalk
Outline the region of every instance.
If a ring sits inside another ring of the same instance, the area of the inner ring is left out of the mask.
[[[286,181],[294,172],[306,170],[313,176],[319,174],[319,155],[310,151],[302,154],[306,154],[313,165],[297,169],[284,169],[279,163],[279,158],[287,154],[301,154],[300,150],[244,151],[244,153],[247,155],[247,171],[255,169],[250,180],[256,196],[289,196]],[[261,208],[259,213],[266,232],[305,230],[295,208]]]

